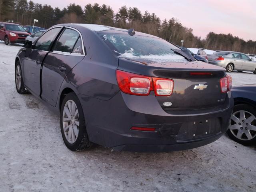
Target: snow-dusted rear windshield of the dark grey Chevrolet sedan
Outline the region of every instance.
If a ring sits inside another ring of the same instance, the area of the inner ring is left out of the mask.
[[[160,38],[114,33],[98,34],[113,52],[125,58],[150,63],[188,62],[172,50],[178,47]]]

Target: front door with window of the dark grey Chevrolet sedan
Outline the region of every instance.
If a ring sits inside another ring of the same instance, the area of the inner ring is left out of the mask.
[[[41,36],[32,48],[26,48],[24,59],[24,84],[31,92],[40,95],[40,72],[42,62],[48,54],[61,27],[53,28]]]

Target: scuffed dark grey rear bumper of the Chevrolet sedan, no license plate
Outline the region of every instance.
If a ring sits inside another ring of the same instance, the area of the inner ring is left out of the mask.
[[[224,109],[180,114],[165,112],[153,95],[143,97],[118,92],[108,101],[78,96],[90,141],[115,150],[140,152],[185,150],[214,142],[228,129],[234,105],[230,92]],[[214,124],[215,120],[218,124]],[[209,127],[198,125],[207,121],[213,122],[210,131]],[[194,124],[198,126],[194,128]],[[156,130],[131,130],[132,126]]]

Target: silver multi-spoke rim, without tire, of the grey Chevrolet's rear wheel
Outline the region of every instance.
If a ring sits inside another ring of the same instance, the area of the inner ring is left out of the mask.
[[[68,100],[62,114],[63,131],[67,141],[72,144],[76,141],[79,132],[79,114],[76,103]]]

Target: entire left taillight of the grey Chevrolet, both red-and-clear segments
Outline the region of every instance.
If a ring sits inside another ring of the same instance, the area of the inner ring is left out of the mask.
[[[170,96],[173,91],[172,79],[157,78],[116,70],[120,90],[131,95],[147,96],[155,91],[156,96]]]

